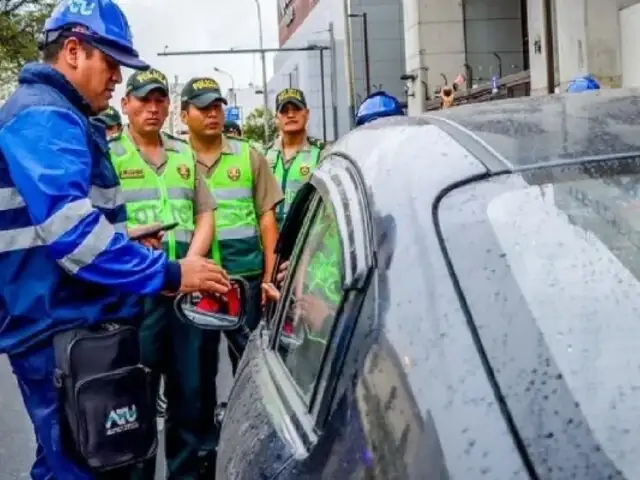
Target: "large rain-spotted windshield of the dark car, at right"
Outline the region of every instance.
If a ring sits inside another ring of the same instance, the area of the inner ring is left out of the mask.
[[[462,187],[439,209],[542,478],[640,477],[639,184],[636,162],[544,170]]]

